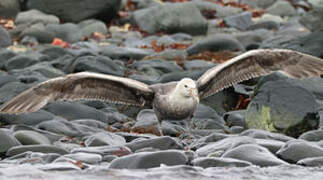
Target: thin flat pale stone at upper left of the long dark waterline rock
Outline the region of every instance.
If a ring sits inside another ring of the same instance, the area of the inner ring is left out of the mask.
[[[102,156],[114,155],[125,156],[131,154],[132,151],[126,146],[97,146],[97,147],[81,147],[71,150],[71,153],[93,153],[100,154]]]

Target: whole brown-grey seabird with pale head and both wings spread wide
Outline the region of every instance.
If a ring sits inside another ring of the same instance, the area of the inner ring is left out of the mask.
[[[147,85],[143,82],[94,72],[79,72],[35,85],[0,108],[1,114],[39,110],[57,100],[99,100],[115,104],[151,107],[161,122],[182,119],[191,130],[191,118],[199,101],[242,81],[279,71],[290,78],[320,77],[323,60],[287,49],[247,51],[202,74],[197,80]]]

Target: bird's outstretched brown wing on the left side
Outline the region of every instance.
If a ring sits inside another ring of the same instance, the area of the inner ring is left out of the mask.
[[[136,80],[81,72],[40,83],[6,102],[0,113],[34,112],[55,100],[101,100],[143,106],[153,98],[148,85]]]

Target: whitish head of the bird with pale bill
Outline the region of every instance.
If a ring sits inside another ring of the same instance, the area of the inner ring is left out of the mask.
[[[177,89],[181,96],[186,98],[198,98],[196,83],[190,78],[184,78],[177,84]]]

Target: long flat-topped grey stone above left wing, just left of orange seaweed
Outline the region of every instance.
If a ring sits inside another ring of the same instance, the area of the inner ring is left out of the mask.
[[[101,46],[100,53],[111,59],[135,59],[140,60],[145,56],[152,54],[152,51],[140,48],[117,47],[117,46]]]

